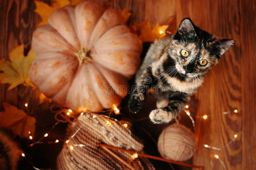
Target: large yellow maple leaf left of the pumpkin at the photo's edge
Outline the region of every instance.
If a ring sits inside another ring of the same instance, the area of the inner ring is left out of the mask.
[[[0,60],[0,71],[2,71],[0,82],[10,84],[8,91],[20,84],[36,88],[29,79],[29,68],[35,58],[36,54],[32,49],[28,52],[28,56],[24,57],[24,45],[22,44],[9,53],[10,61]]]

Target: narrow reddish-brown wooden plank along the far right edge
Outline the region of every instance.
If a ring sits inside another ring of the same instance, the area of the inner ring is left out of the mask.
[[[256,58],[254,0],[240,2],[241,83],[242,83],[242,169],[256,169]]]

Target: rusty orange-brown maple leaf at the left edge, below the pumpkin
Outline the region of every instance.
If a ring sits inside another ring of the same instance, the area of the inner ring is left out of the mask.
[[[11,129],[21,138],[34,136],[36,118],[28,116],[23,110],[4,102],[4,111],[0,111],[0,127]]]

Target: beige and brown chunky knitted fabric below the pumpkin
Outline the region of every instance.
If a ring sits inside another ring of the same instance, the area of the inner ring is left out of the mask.
[[[95,118],[92,118],[93,115],[96,114],[84,114],[78,118],[73,126],[68,126],[67,131],[71,135],[69,142],[65,143],[57,158],[58,169],[129,169],[99,147],[99,144],[103,143],[137,152],[142,152],[143,144],[133,138],[131,131],[124,128],[118,121],[101,115],[96,115]],[[109,124],[106,124],[107,121],[109,121]],[[76,135],[74,136],[73,134],[75,133]],[[80,144],[84,146],[80,147]],[[73,150],[70,149],[70,146],[73,146]],[[130,153],[112,151],[136,169],[155,169],[146,158],[139,157],[132,160]]]

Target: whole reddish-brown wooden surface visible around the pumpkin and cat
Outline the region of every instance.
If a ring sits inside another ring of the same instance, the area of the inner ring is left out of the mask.
[[[194,164],[205,169],[224,169],[214,158],[218,154],[227,169],[256,169],[256,17],[253,0],[98,0],[115,9],[128,8],[132,22],[149,20],[171,24],[172,33],[181,19],[189,17],[202,29],[220,37],[236,39],[236,44],[222,56],[198,89],[197,116],[209,115],[207,120],[196,119],[197,148]],[[48,4],[51,0],[45,0]],[[28,52],[34,26],[40,21],[33,12],[33,0],[0,1],[0,58],[17,45],[25,44]],[[23,108],[29,89],[19,86],[7,92],[0,85],[0,108],[6,101]],[[238,113],[233,110],[237,109]],[[221,114],[228,111],[228,114]],[[234,138],[228,147],[225,145]],[[221,148],[207,149],[204,144]]]

